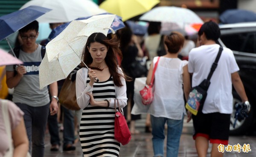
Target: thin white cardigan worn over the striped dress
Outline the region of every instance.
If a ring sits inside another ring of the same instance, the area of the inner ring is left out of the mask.
[[[118,67],[117,71],[118,73],[121,73],[123,75],[120,67]],[[76,73],[76,101],[81,109],[84,109],[89,104],[90,96],[86,93],[92,93],[93,91],[93,87],[86,83],[87,75],[88,69],[85,67],[79,69]],[[115,85],[115,90],[116,98],[119,99],[120,108],[123,108],[127,105],[125,78],[121,78],[121,83],[123,84],[123,86],[118,87]],[[109,107],[115,108],[113,98],[111,98],[110,100]]]

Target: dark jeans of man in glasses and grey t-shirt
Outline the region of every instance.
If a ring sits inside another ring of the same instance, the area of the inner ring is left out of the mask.
[[[49,104],[42,107],[31,107],[27,104],[15,103],[24,112],[24,122],[29,138],[29,148],[32,142],[32,157],[44,157],[44,132],[49,113]]]

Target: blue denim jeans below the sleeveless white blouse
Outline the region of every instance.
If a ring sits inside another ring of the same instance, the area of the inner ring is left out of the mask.
[[[167,122],[167,151],[166,157],[177,157],[180,145],[180,136],[183,128],[183,118],[181,120],[173,120],[163,117],[154,117],[150,115],[152,126],[152,142],[154,149],[154,157],[163,157],[164,152],[164,129]]]

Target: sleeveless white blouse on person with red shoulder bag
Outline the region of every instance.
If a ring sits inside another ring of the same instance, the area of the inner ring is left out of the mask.
[[[153,63],[157,62],[157,57]],[[183,67],[188,61],[160,57],[154,80],[154,99],[148,113],[155,117],[181,120],[186,115],[183,98]]]

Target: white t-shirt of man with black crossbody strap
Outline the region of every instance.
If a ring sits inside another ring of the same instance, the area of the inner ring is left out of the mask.
[[[218,44],[202,45],[193,48],[189,53],[189,73],[193,73],[192,87],[199,85],[207,78],[212,63],[219,50]],[[203,113],[220,112],[231,114],[233,111],[233,95],[231,74],[239,71],[233,52],[224,48],[218,66],[210,79],[207,98],[204,102]]]

